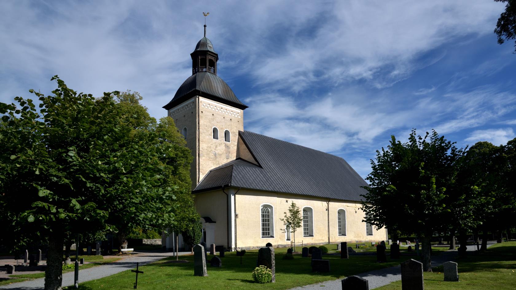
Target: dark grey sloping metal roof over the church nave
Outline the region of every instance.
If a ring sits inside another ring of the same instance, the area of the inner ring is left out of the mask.
[[[240,131],[261,166],[236,159],[212,169],[194,193],[236,186],[320,198],[360,201],[367,183],[341,157],[279,139]]]

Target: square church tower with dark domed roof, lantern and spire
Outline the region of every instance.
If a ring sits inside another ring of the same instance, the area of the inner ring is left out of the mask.
[[[186,139],[193,162],[190,167],[192,188],[209,170],[234,160],[238,131],[244,131],[247,108],[217,75],[218,54],[204,37],[190,54],[192,75],[163,106]]]

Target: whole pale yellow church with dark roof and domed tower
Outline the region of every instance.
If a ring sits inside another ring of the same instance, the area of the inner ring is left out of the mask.
[[[367,183],[343,158],[244,130],[248,106],[217,75],[206,25],[190,55],[192,75],[163,108],[193,155],[192,194],[207,245],[290,246],[294,236],[281,231],[280,218],[293,202],[303,219],[297,246],[387,239],[386,229],[362,221]]]

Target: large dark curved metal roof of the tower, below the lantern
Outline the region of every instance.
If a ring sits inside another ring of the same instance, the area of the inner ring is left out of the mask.
[[[247,108],[222,78],[209,72],[198,72],[185,80],[175,92],[174,98],[163,108],[170,109],[183,103],[194,95],[202,95],[205,98],[218,101],[239,109]]]

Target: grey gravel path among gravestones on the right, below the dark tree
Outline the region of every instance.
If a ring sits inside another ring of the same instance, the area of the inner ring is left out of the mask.
[[[488,248],[492,245],[496,244],[496,241],[488,241]],[[467,246],[468,251],[476,250],[476,246]],[[442,265],[444,262],[448,262],[450,260],[454,260],[457,256],[456,251],[450,251],[442,253],[438,256],[432,257],[432,267]],[[362,277],[369,282],[369,289],[375,289],[381,287],[383,285],[389,284],[391,282],[401,280],[401,266],[383,268],[379,270],[369,271],[365,273],[360,273],[355,275],[358,277]],[[331,280],[321,283],[316,283],[312,285],[305,285],[301,287],[295,287],[290,290],[315,290],[315,289],[325,289],[325,290],[342,290],[342,279]],[[321,288],[324,287],[324,288]]]

